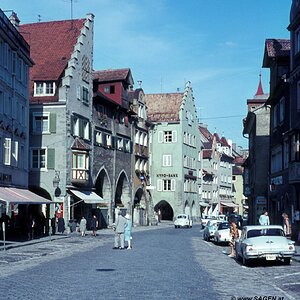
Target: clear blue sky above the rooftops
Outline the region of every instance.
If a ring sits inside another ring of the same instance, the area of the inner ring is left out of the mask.
[[[183,91],[190,81],[198,119],[210,132],[248,147],[247,99],[262,68],[267,38],[289,38],[292,0],[0,0],[21,24],[93,13],[94,70],[130,68],[135,88]]]

